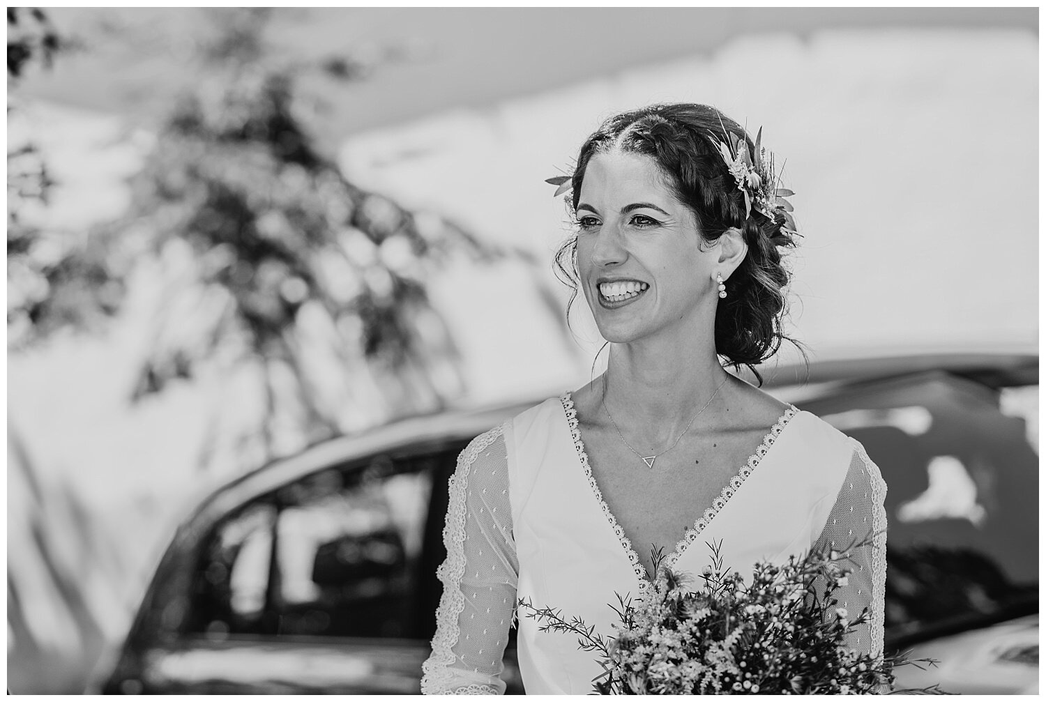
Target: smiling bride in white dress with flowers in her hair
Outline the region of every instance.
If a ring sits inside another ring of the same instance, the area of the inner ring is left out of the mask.
[[[478,436],[450,484],[447,561],[426,694],[504,692],[516,603],[613,635],[617,594],[641,597],[652,551],[698,573],[708,542],[750,573],[811,546],[850,553],[837,591],[883,648],[886,485],[856,440],[724,368],[784,339],[795,244],[772,157],[714,108],[652,106],[608,119],[565,187],[576,230],[556,256],[610,343],[606,372]],[[586,694],[600,672],[575,637],[521,618],[528,694]]]

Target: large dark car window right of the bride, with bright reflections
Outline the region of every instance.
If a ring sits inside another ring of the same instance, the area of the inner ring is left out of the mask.
[[[888,632],[1037,602],[1037,399],[1038,386],[1000,393],[930,373],[806,404],[886,481]]]

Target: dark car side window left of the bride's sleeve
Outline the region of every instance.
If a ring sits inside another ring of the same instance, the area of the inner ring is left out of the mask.
[[[250,501],[203,549],[190,630],[211,638],[420,636],[417,622],[431,618],[429,505],[434,484],[446,492],[454,458],[378,456]]]

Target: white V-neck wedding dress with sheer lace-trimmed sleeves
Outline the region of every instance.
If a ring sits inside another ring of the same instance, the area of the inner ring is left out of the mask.
[[[811,546],[842,548],[852,573],[836,594],[850,617],[869,621],[848,637],[883,649],[886,484],[863,447],[809,412],[790,407],[677,544],[668,563],[700,573],[706,543],[722,542],[726,567],[751,575],[756,561],[782,563]],[[592,477],[573,402],[548,400],[476,437],[450,482],[444,529],[447,561],[425,694],[503,693],[502,654],[519,598],[581,617],[613,636],[617,595],[650,586],[623,530]],[[518,654],[527,694],[588,694],[602,669],[577,637],[540,632],[520,616]]]

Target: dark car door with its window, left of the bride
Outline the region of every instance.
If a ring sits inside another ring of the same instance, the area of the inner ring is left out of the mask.
[[[139,639],[138,674],[110,689],[417,694],[458,448],[314,471],[222,516],[198,545],[177,633]]]

